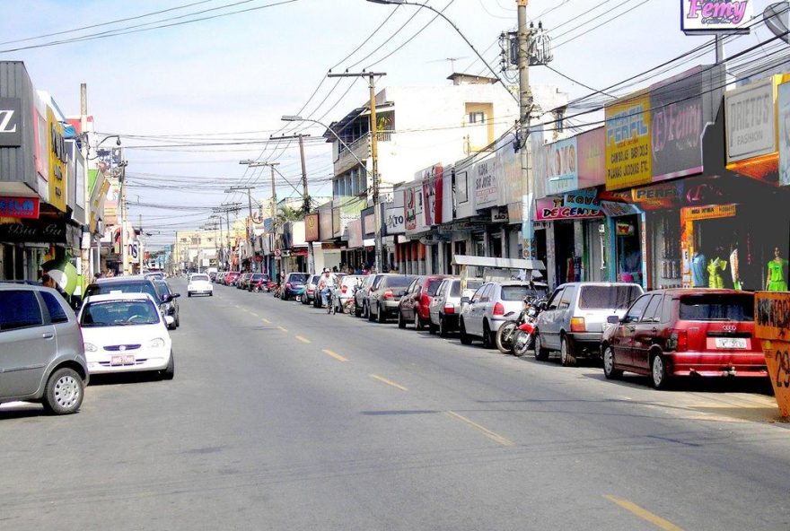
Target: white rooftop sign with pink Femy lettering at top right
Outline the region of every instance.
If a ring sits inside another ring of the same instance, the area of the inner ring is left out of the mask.
[[[749,33],[752,0],[680,0],[680,29],[688,34]]]

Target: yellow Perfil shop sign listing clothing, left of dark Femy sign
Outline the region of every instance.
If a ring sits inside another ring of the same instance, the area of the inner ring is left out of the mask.
[[[606,189],[638,187],[652,180],[650,98],[621,100],[606,108]]]

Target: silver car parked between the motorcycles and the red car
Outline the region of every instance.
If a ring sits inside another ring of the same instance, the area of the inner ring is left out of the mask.
[[[625,315],[642,293],[635,283],[560,285],[535,322],[535,358],[546,360],[558,351],[563,365],[573,365],[578,357],[600,356],[607,318]]]

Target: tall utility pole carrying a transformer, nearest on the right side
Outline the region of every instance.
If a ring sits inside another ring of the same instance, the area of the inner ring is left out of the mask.
[[[522,183],[524,185],[527,205],[523,205],[523,256],[528,260],[536,258],[535,225],[532,222],[532,203],[534,200],[534,178],[531,166],[530,119],[532,115],[532,90],[530,88],[530,38],[531,30],[527,26],[527,3],[529,0],[516,0],[518,6],[518,69],[519,69],[519,126],[522,162]]]

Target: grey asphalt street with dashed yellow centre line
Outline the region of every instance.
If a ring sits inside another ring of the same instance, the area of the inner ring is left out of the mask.
[[[0,406],[0,530],[790,529],[762,387],[658,392],[224,286],[180,311],[172,381]]]

